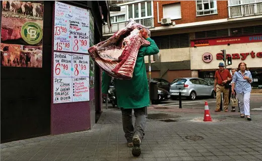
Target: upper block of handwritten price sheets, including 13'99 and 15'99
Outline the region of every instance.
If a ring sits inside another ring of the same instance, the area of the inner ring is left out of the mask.
[[[54,50],[85,53],[89,48],[89,11],[55,2]]]

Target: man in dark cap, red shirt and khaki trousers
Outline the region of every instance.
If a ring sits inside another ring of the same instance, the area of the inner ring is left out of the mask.
[[[214,90],[217,92],[217,103],[216,103],[216,112],[220,111],[220,101],[221,101],[221,93],[223,92],[224,98],[224,110],[228,112],[228,104],[229,104],[229,88],[230,81],[232,80],[231,74],[229,70],[225,69],[224,63],[219,63],[219,69],[215,73],[215,84]]]

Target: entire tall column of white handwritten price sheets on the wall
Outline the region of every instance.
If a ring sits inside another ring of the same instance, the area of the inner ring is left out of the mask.
[[[89,101],[89,11],[55,2],[53,46],[53,103]]]

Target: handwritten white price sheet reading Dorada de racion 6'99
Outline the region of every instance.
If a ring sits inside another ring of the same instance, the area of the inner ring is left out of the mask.
[[[54,52],[54,77],[72,76],[72,55]]]

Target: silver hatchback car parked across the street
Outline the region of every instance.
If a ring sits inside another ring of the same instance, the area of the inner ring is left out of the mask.
[[[189,97],[194,100],[197,96],[216,97],[214,86],[201,78],[176,78],[171,83],[170,95],[172,99],[179,96],[179,89],[182,97]]]

